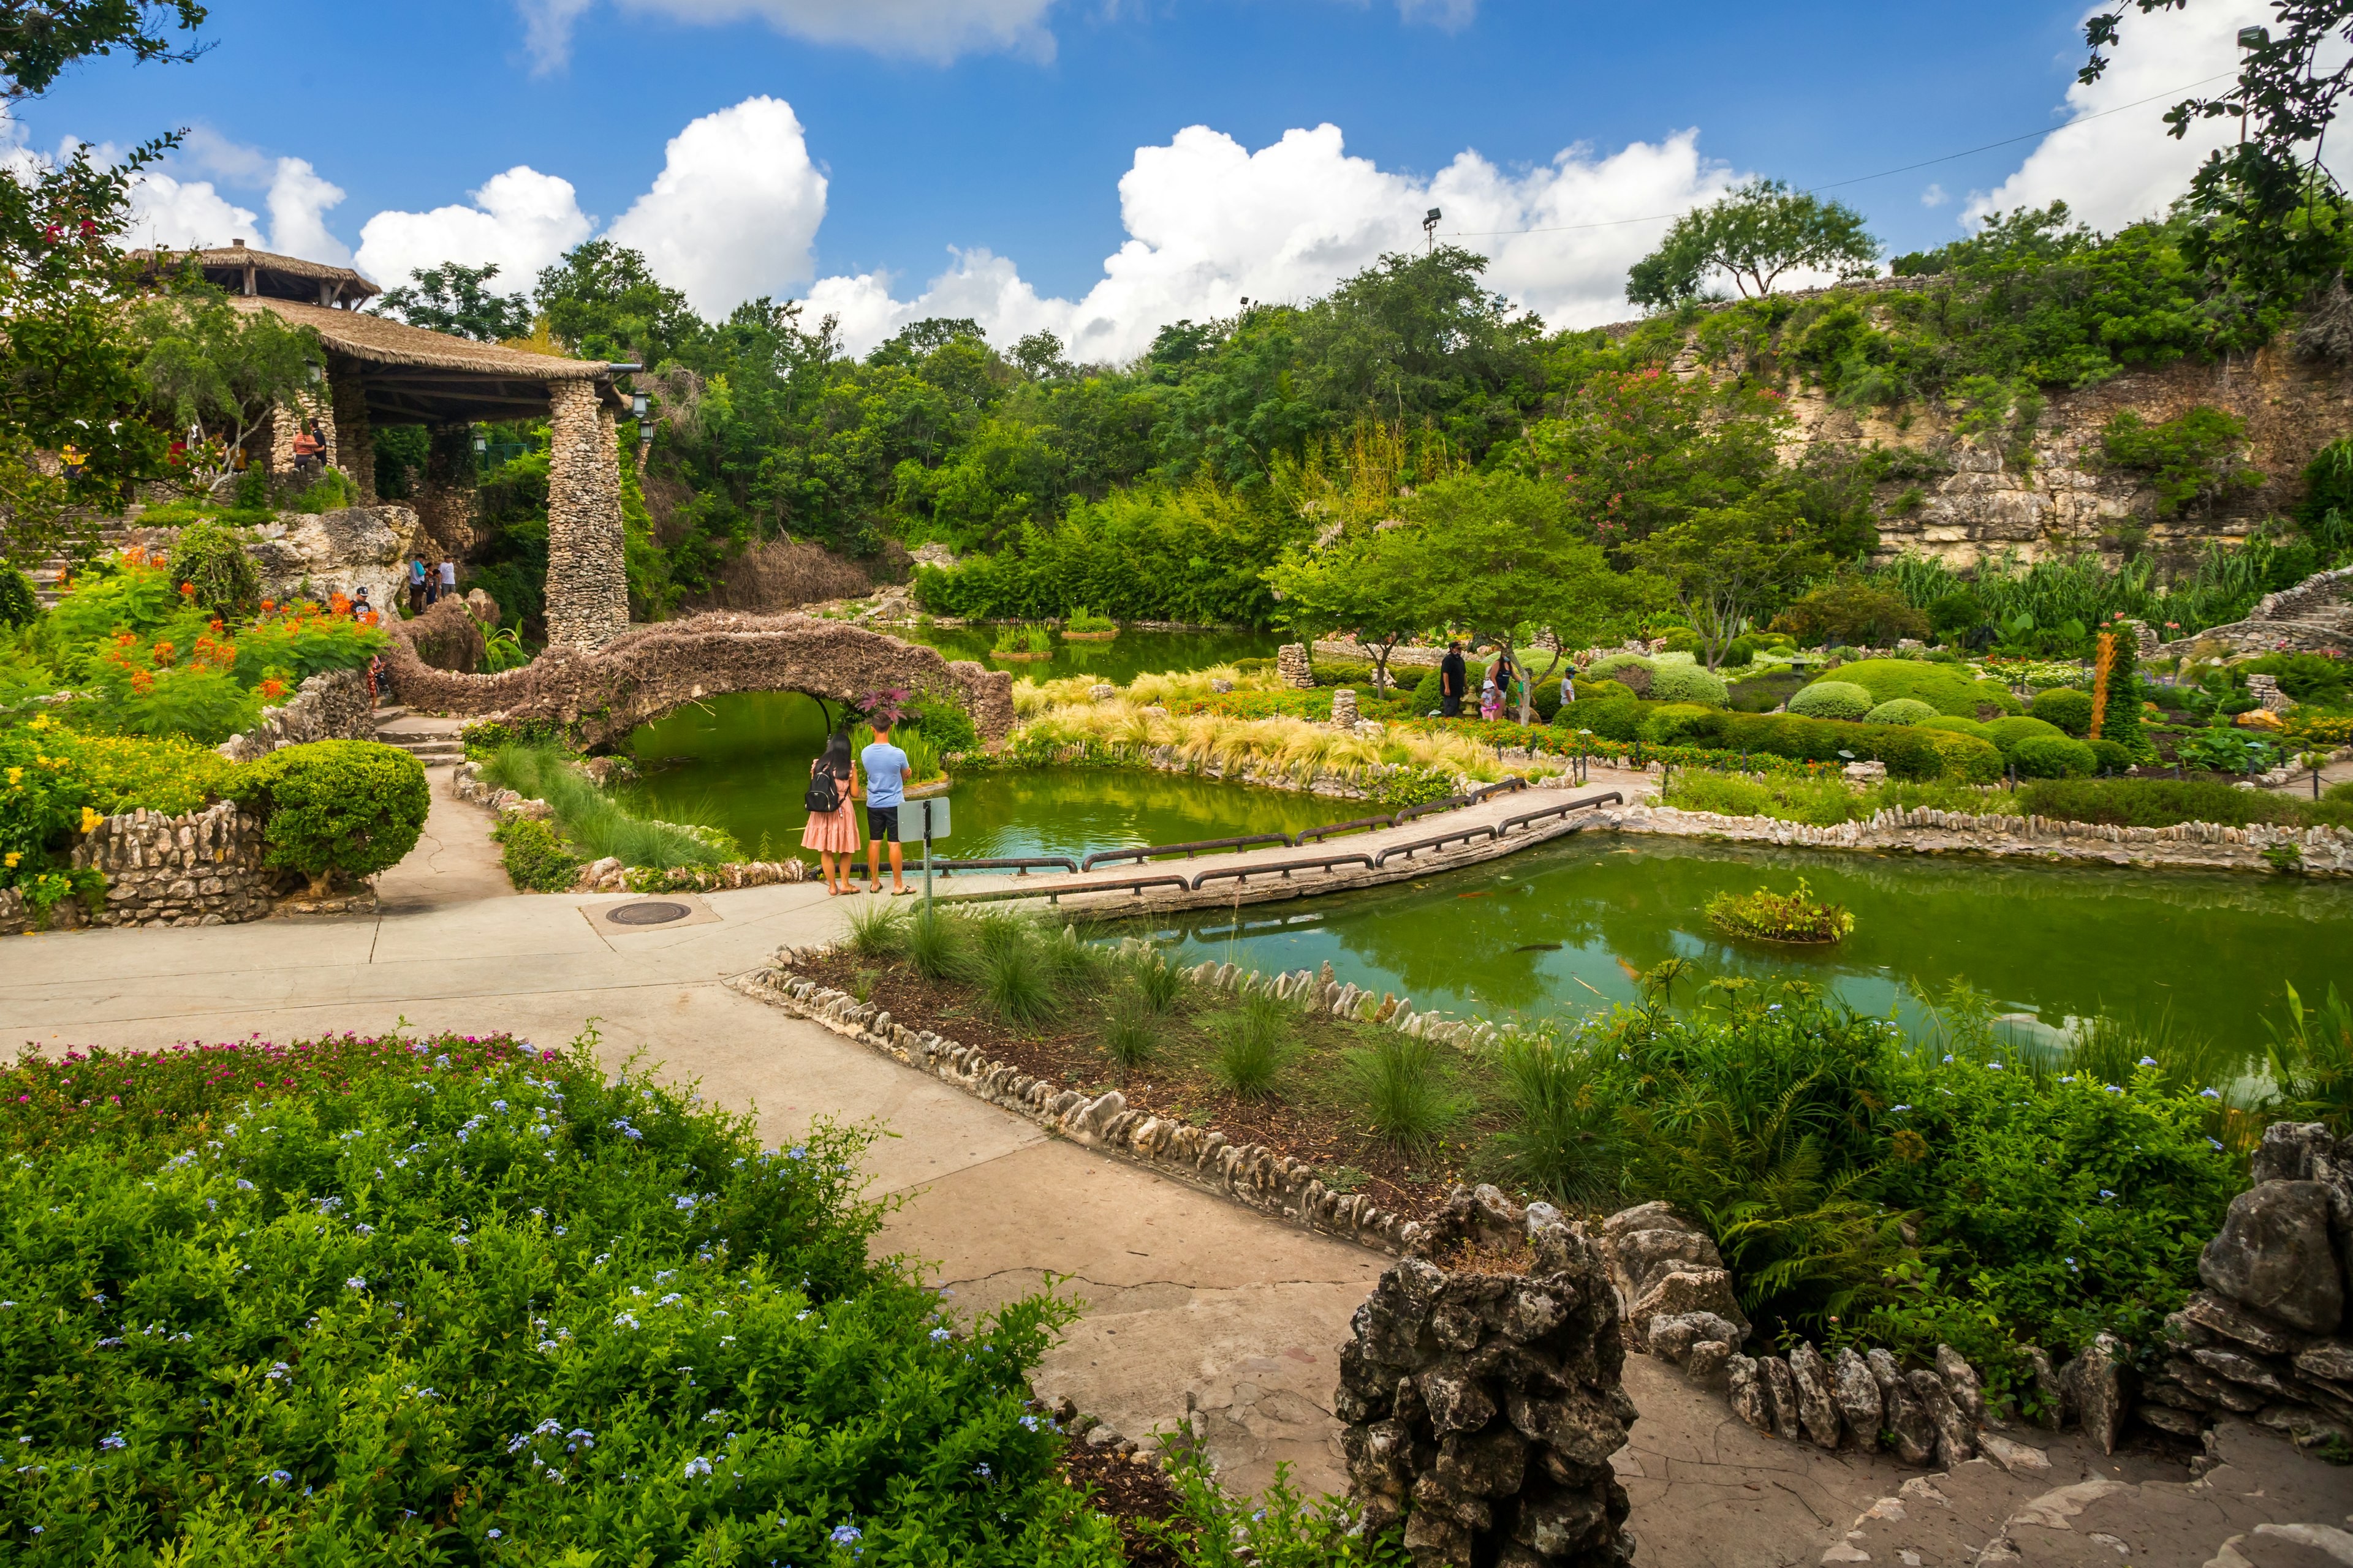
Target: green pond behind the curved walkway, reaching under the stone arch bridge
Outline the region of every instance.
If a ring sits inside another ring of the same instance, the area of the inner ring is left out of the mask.
[[[776,858],[800,853],[800,792],[824,743],[816,703],[798,693],[751,693],[680,708],[631,736],[640,783],[621,797],[645,816],[725,827]],[[1360,816],[1351,802],[1252,790],[1144,769],[1005,769],[955,780],[955,837],[936,853],[958,860],[1085,856],[1134,844],[1184,844],[1245,832],[1299,832]],[[814,858],[814,856],[805,856]]]

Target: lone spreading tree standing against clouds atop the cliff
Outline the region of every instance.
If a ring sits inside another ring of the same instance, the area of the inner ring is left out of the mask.
[[[1878,259],[1880,242],[1864,230],[1864,214],[1779,179],[1753,179],[1675,219],[1659,249],[1633,263],[1626,299],[1666,310],[1699,299],[1718,273],[1732,277],[1741,299],[1762,299],[1784,273],[1868,277]]]

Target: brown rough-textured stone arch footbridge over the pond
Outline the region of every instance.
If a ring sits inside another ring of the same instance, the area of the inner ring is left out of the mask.
[[[635,625],[598,649],[551,646],[520,670],[435,670],[393,623],[391,696],[419,712],[555,719],[588,750],[609,750],[647,719],[708,696],[800,691],[854,703],[906,686],[960,701],[984,743],[1014,726],[1012,675],[936,649],[816,616],[706,614]]]

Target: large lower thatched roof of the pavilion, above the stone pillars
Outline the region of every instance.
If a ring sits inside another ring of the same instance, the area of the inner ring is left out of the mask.
[[[534,355],[407,327],[365,310],[329,310],[292,299],[238,296],[228,303],[238,310],[271,310],[296,327],[311,327],[325,343],[329,362],[358,360],[367,409],[376,423],[544,418],[551,381],[593,381],[616,409],[628,407],[612,386],[612,367],[602,360]]]

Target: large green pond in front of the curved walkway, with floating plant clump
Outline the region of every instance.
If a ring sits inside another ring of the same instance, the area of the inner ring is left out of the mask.
[[[1798,877],[1854,912],[1854,936],[1835,947],[1734,943],[1706,922],[1711,893],[1788,891]],[[2308,1001],[2329,980],[2344,987],[2353,886],[1598,832],[1494,867],[1245,905],[1240,924],[1179,917],[1158,936],[1188,964],[1214,957],[1273,973],[1329,961],[1341,980],[1454,1016],[1581,1016],[1638,999],[1635,976],[1673,957],[1692,966],[1678,999],[1715,978],[1802,978],[1918,1027],[1920,997],[1941,999],[1960,980],[2026,1039],[2113,1013],[2169,1018],[2257,1056],[2264,1018],[2285,1020],[2285,985]]]

